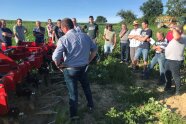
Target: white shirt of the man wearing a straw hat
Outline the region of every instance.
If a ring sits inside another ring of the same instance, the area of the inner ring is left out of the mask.
[[[142,29],[141,28],[137,28],[137,29],[132,29],[129,35],[140,35],[141,34]],[[129,39],[130,41],[130,47],[138,47],[140,45],[140,41],[135,40],[135,39]]]

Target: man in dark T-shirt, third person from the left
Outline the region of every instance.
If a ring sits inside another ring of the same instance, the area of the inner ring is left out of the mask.
[[[36,27],[33,29],[36,43],[44,43],[45,41],[45,28],[41,27],[41,22],[36,21]]]

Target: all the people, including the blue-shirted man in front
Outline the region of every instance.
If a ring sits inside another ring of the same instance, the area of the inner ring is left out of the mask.
[[[14,37],[16,44],[25,41],[27,29],[22,25],[22,20],[17,19],[13,32],[6,27],[6,21],[0,21],[0,42],[11,46],[11,39]],[[186,46],[185,27],[171,23],[169,31],[165,35],[162,31],[155,32],[156,38],[152,38],[153,31],[149,28],[149,22],[143,20],[140,24],[137,20],[133,22],[133,29],[129,30],[127,24],[121,24],[121,31],[117,34],[113,30],[112,24],[107,24],[104,33],[104,55],[112,54],[116,47],[117,35],[120,40],[121,62],[131,64],[133,71],[138,69],[139,59],[143,60],[143,79],[148,79],[154,66],[159,64],[160,79],[159,84],[164,84],[164,90],[171,90],[172,78],[175,82],[175,94],[180,94],[180,68],[184,61],[184,49]],[[77,117],[78,90],[77,82],[80,81],[88,108],[94,107],[92,93],[87,79],[88,64],[95,56],[99,58],[97,52],[97,40],[99,36],[99,26],[94,22],[93,16],[89,17],[89,23],[84,26],[77,24],[76,18],[65,18],[57,20],[56,25],[48,19],[46,28],[41,26],[40,21],[36,21],[33,29],[33,36],[36,43],[45,42],[45,29],[48,34],[48,42],[56,43],[57,47],[52,59],[56,66],[63,70],[67,88],[69,91],[70,117]],[[151,61],[148,60],[149,51],[154,51]],[[61,64],[61,58],[64,62]]]

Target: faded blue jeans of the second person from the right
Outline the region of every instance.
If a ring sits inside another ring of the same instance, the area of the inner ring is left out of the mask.
[[[165,54],[164,53],[156,53],[152,58],[151,63],[149,64],[149,71],[151,71],[156,63],[159,64],[160,71],[160,82],[165,83]]]

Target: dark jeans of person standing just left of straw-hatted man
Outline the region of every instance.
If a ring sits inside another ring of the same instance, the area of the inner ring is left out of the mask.
[[[121,61],[129,61],[129,44],[128,43],[120,43],[121,47]]]

